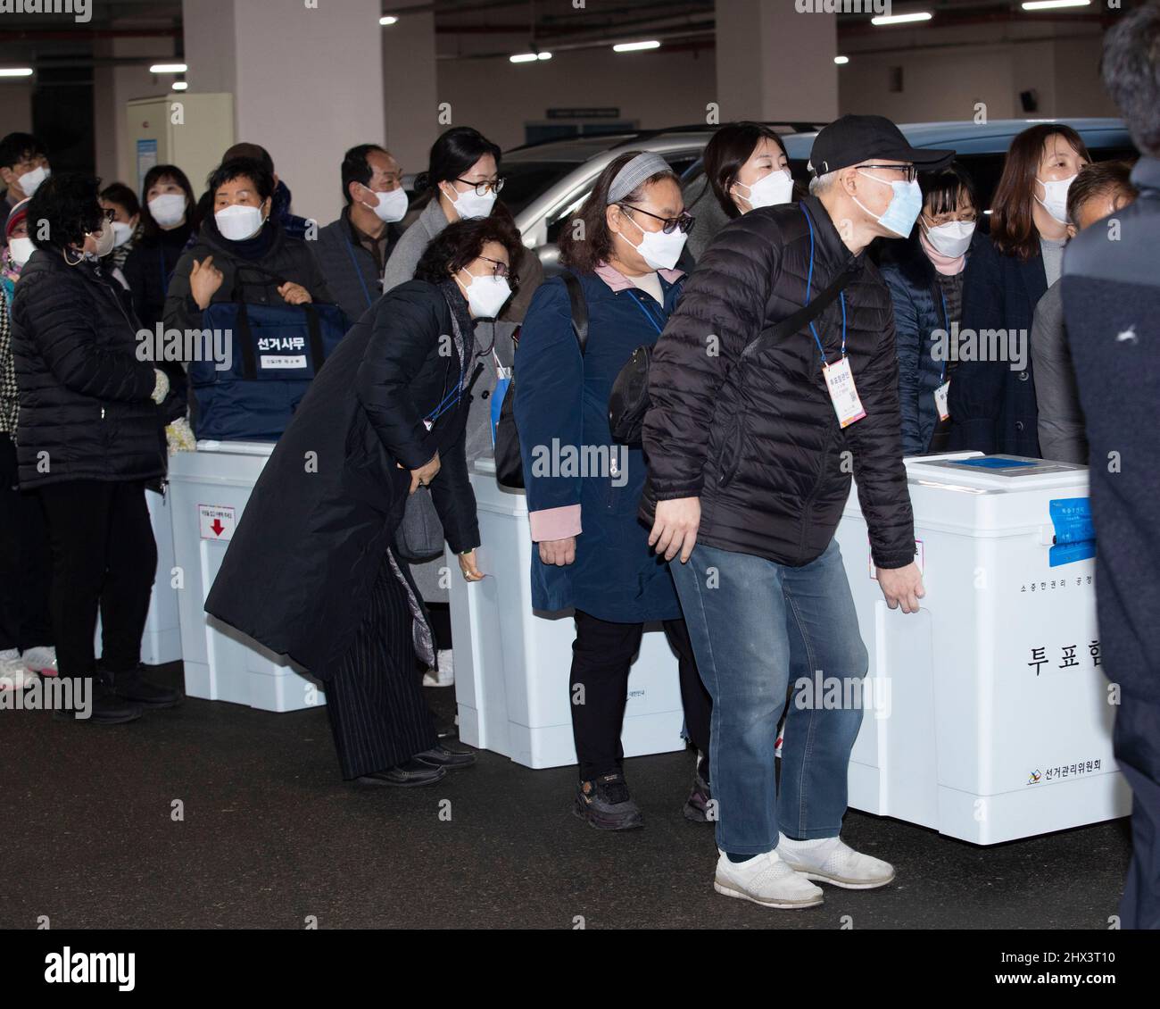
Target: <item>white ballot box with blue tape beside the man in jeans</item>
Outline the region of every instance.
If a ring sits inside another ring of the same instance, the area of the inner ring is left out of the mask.
[[[906,469],[919,613],[886,606],[856,488],[838,531],[870,653],[849,805],[976,844],[1128,815],[1087,468],[958,453]]]

